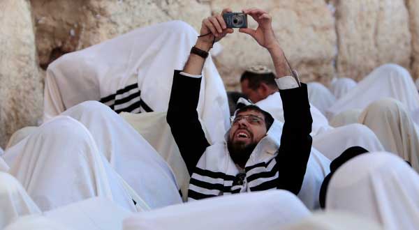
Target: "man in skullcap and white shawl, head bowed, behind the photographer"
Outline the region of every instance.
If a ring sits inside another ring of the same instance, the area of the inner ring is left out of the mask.
[[[256,103],[260,109],[270,113],[278,121],[284,122],[281,95],[272,70],[266,66],[252,66],[243,72],[240,84],[243,94],[251,102]],[[331,129],[328,119],[316,107],[310,105],[310,112],[313,117],[311,135],[315,136]]]

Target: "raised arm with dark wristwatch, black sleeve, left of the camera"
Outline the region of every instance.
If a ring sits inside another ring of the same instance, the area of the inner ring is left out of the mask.
[[[223,12],[229,9],[223,10]],[[203,20],[200,36],[194,48],[201,55],[212,48],[214,42],[220,40],[233,29],[226,29],[226,24],[221,15],[214,15]],[[210,146],[198,119],[198,106],[201,75],[205,57],[191,52],[188,61],[181,71],[175,70],[172,91],[170,93],[167,121],[175,138],[179,151],[186,163],[189,174],[192,174],[198,160]]]

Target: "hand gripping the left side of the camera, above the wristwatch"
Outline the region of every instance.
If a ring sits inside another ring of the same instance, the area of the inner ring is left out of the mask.
[[[203,47],[207,51],[212,47],[212,43],[218,42],[221,38],[224,38],[227,33],[233,33],[233,29],[227,28],[226,22],[223,19],[223,13],[232,12],[230,8],[225,8],[220,14],[213,15],[211,17],[205,18],[203,20],[203,24],[200,29],[200,35],[202,36],[198,38],[197,45]],[[214,40],[215,38],[215,40]],[[200,47],[198,47],[200,48]]]

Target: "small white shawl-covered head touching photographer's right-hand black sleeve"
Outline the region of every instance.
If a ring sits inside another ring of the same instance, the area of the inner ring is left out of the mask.
[[[309,101],[313,104],[323,116],[326,110],[329,109],[336,101],[333,95],[326,86],[318,82],[307,83],[307,90],[309,93]]]

